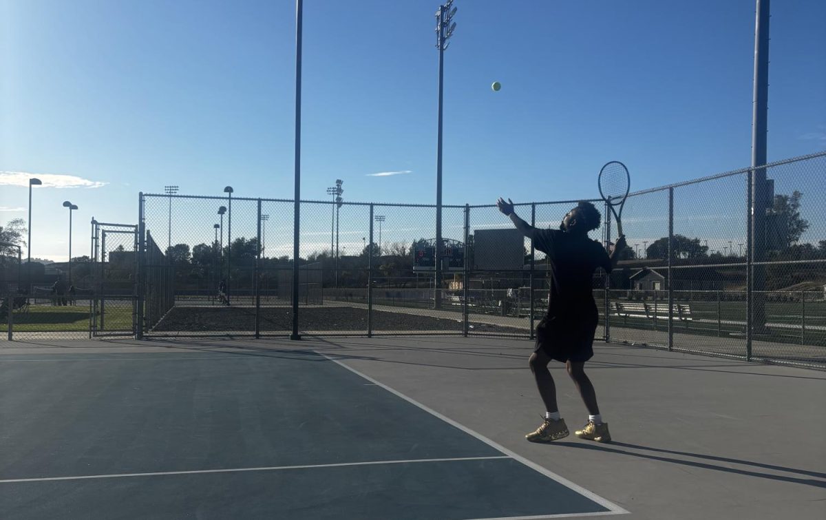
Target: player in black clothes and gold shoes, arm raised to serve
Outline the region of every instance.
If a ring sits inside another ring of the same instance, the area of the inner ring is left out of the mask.
[[[545,421],[525,438],[532,442],[548,442],[568,436],[565,420],[559,417],[556,386],[548,371],[550,360],[558,360],[565,363],[588,408],[587,424],[574,435],[609,442],[608,423],[602,422],[594,385],[584,367],[594,355],[594,332],[599,321],[592,277],[599,267],[610,273],[619,258],[619,251],[625,247],[625,237],[619,237],[610,256],[599,242],[591,240],[588,232],[600,227],[601,220],[600,212],[591,203],[577,203],[576,208],[567,212],[558,230],[531,227],[516,215],[510,198],[508,202],[500,198],[496,206],[510,217],[516,229],[534,242],[536,249],[548,255],[550,265],[548,314],[536,327],[536,346],[529,360],[545,404]]]

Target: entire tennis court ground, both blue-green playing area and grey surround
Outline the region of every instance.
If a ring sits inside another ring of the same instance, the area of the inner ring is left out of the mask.
[[[531,444],[529,341],[15,341],[2,518],[823,518],[826,374],[596,348],[615,442]],[[570,429],[586,417],[552,365]],[[625,514],[627,513],[627,514]]]

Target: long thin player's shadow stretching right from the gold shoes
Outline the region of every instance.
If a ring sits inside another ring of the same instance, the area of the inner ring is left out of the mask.
[[[826,488],[826,480],[816,480],[816,479],[826,479],[826,473],[820,473],[818,471],[810,471],[810,470],[798,470],[795,468],[787,468],[780,465],[771,465],[771,464],[764,464],[762,462],[752,462],[751,460],[740,460],[740,459],[731,459],[728,457],[720,457],[720,456],[713,456],[713,455],[702,455],[700,453],[689,453],[687,451],[674,451],[674,450],[665,450],[662,448],[652,448],[649,446],[639,446],[637,444],[629,444],[627,442],[617,442],[612,441],[610,444],[596,444],[596,443],[584,443],[584,442],[554,442],[555,445],[560,446],[568,446],[571,448],[578,448],[581,450],[595,450],[595,451],[607,451],[609,453],[616,453],[619,455],[627,455],[627,456],[634,456],[639,457],[642,459],[648,460],[658,460],[661,462],[670,462],[672,464],[679,464],[679,465],[689,465],[695,468],[703,468],[705,470],[715,470],[715,471],[724,471],[726,473],[733,473],[737,475],[747,475],[751,477],[757,477],[761,479],[770,479],[770,480],[779,480],[781,482],[790,482],[792,484],[805,484],[814,486],[817,488]],[[696,460],[683,460],[676,457],[669,457],[669,456],[660,456],[660,455],[653,455],[650,453],[640,453],[638,451],[627,451],[627,450],[620,450],[615,446],[620,446],[623,448],[630,448],[632,450],[645,450],[645,451],[653,451],[656,453],[662,453],[667,455],[674,455],[674,456],[686,456],[686,457],[695,457],[697,459],[702,460],[714,460],[717,462],[727,462],[729,464],[738,464],[738,465],[748,465],[754,466],[758,468],[764,468],[766,470],[775,470],[775,471],[784,471],[786,473],[793,473],[797,475],[808,475],[815,477],[816,479],[803,479],[799,477],[791,477],[785,475],[773,475],[771,473],[762,473],[760,471],[751,471],[751,470],[738,470],[737,468],[729,468],[724,465],[715,465],[711,464],[710,462],[700,462]]]

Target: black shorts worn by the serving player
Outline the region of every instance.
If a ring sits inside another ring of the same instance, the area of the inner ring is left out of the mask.
[[[544,317],[536,326],[534,352],[542,351],[553,360],[584,363],[594,356],[596,320]]]

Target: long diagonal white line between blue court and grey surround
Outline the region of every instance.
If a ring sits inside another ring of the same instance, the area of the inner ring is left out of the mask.
[[[483,436],[481,433],[474,432],[470,428],[468,428],[466,426],[463,426],[462,424],[459,424],[456,421],[453,421],[453,419],[451,419],[449,417],[446,417],[446,416],[442,415],[439,412],[436,412],[434,409],[429,408],[429,407],[425,406],[422,403],[419,403],[415,399],[409,398],[405,394],[401,394],[401,392],[399,392],[398,390],[390,388],[389,386],[387,386],[387,384],[383,384],[381,381],[378,381],[377,379],[373,379],[369,375],[363,374],[362,372],[359,372],[358,370],[355,370],[353,367],[344,365],[344,363],[341,362],[340,360],[336,360],[336,359],[330,357],[329,355],[324,354],[323,352],[316,351],[316,354],[323,355],[325,358],[332,361],[336,365],[339,365],[339,366],[349,370],[350,372],[353,372],[354,374],[356,374],[360,377],[363,377],[364,379],[367,379],[371,383],[382,387],[382,389],[385,389],[388,392],[390,392],[391,394],[396,395],[396,397],[400,397],[400,398],[404,399],[405,401],[407,401],[408,403],[411,403],[412,405],[414,405],[418,408],[421,408],[425,412],[430,413],[431,415],[434,415],[435,417],[439,417],[439,419],[443,420],[444,422],[447,422],[450,426],[456,427],[459,430],[462,430],[463,432],[467,433],[468,435],[470,435],[472,437],[476,437],[478,440],[484,442],[488,446],[491,446],[492,448],[494,448],[497,451],[501,451],[506,456],[509,456],[511,459],[518,460],[522,464],[528,466],[531,470],[538,471],[542,475],[545,475],[546,477],[548,477],[548,479],[553,479],[556,482],[558,482],[559,484],[563,484],[563,486],[565,486],[566,488],[572,489],[573,491],[576,491],[578,494],[582,494],[586,498],[591,499],[592,501],[600,504],[603,508],[609,509],[609,511],[599,513],[599,514],[607,515],[607,514],[628,514],[629,513],[629,511],[626,511],[625,509],[620,508],[617,504],[615,504],[613,502],[610,502],[609,500],[603,499],[600,495],[598,495],[598,494],[596,494],[592,491],[589,491],[588,489],[583,488],[579,484],[574,484],[573,482],[571,482],[570,480],[564,478],[563,476],[560,476],[560,475],[557,475],[556,473],[553,473],[553,471],[546,470],[541,465],[538,465],[535,462],[532,462],[531,460],[528,460],[525,457],[518,455],[515,451],[510,451],[505,446],[501,446],[501,444],[499,444],[495,441],[491,441],[491,439],[488,439],[487,437]],[[556,516],[556,517],[545,516],[545,517],[512,517],[512,518],[511,517],[503,517],[503,518],[508,518],[509,520],[515,520],[515,518],[564,518],[564,516],[566,516],[566,515]],[[573,516],[573,515],[567,515],[567,516]],[[594,516],[594,515],[591,515],[591,516]],[[479,520],[482,520],[482,519],[479,519]],[[496,520],[496,519],[491,518],[490,520]]]

